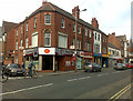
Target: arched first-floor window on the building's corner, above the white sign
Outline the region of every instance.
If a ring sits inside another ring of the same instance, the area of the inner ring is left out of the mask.
[[[44,47],[51,47],[51,32],[47,30],[44,32]]]

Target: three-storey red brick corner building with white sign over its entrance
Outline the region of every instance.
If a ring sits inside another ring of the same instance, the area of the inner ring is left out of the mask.
[[[76,32],[76,69],[83,69],[84,62],[93,62],[93,26],[80,19],[79,7],[71,14],[50,2],[42,2],[14,29],[14,62],[24,62],[27,68],[32,59],[39,71],[74,70]]]

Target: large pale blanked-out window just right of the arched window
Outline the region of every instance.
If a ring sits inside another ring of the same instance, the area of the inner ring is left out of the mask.
[[[68,36],[59,33],[59,48],[68,48]]]

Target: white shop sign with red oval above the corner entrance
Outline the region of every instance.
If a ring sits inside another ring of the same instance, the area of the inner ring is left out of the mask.
[[[55,54],[55,48],[39,48],[39,54]]]

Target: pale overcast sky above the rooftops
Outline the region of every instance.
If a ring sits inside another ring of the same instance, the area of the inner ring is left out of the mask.
[[[131,37],[131,2],[132,0],[48,0],[49,2],[72,13],[79,6],[80,18],[91,23],[96,18],[100,29],[106,34],[115,32],[116,36]],[[42,6],[42,0],[0,0],[0,27],[2,21],[21,22]]]

